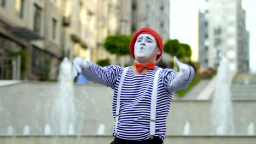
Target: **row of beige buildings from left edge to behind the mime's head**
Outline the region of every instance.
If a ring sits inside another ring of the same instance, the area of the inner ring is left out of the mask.
[[[25,53],[21,79],[57,79],[63,57],[130,63],[130,56],[119,59],[104,49],[108,35],[130,35],[147,26],[164,42],[169,39],[169,1],[0,0],[0,4],[0,57]],[[14,79],[11,69],[1,67],[1,79]]]

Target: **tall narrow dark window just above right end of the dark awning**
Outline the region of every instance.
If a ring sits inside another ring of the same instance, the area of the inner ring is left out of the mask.
[[[40,34],[42,9],[34,4],[34,32]]]

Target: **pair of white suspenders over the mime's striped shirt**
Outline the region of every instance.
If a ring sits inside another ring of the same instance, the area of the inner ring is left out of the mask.
[[[117,112],[115,113],[115,135],[117,135],[117,124],[118,124],[118,119],[119,119],[121,88],[123,85],[125,74],[127,73],[128,69],[129,69],[129,67],[124,68],[124,71],[121,74],[121,78],[120,78],[119,86],[118,86],[117,109],[116,109]],[[158,76],[159,76],[160,71],[161,71],[161,68],[159,68],[154,75],[153,90],[152,90],[152,96],[151,96],[151,107],[150,107],[150,136],[151,136],[151,139],[153,139],[153,136],[155,135],[156,95],[158,94]]]

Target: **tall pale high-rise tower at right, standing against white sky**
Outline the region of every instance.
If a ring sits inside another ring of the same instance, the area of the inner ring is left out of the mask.
[[[200,64],[217,68],[225,56],[231,71],[247,69],[248,61],[242,60],[248,60],[248,35],[241,0],[210,0],[206,5],[207,9],[199,17]]]

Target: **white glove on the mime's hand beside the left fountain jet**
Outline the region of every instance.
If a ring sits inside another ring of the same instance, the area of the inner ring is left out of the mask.
[[[82,57],[75,57],[72,62],[72,78],[82,73],[82,69],[88,67],[88,61]]]

